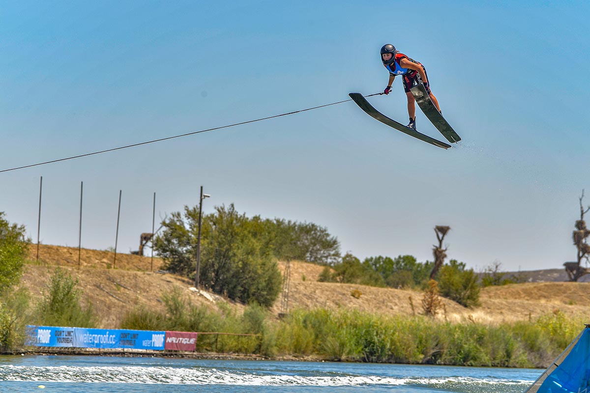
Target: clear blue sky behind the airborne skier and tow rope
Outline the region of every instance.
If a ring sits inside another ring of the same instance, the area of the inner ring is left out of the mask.
[[[450,150],[352,102],[0,173],[0,211],[41,241],[137,249],[156,217],[211,198],[326,226],[363,259],[448,256],[483,269],[575,259],[590,204],[585,1],[0,3],[0,170],[378,93],[392,43],[422,62],[463,138]],[[378,110],[407,121],[401,81]],[[442,136],[418,110],[418,130]],[[158,218],[156,218],[158,219]],[[157,225],[157,224],[156,224]]]

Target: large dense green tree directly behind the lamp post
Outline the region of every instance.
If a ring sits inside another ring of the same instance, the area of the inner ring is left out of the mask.
[[[163,223],[155,249],[165,269],[194,278],[198,207],[185,207]],[[280,292],[281,275],[273,256],[268,223],[248,219],[233,204],[215,207],[202,221],[199,285],[243,303],[271,306]]]

